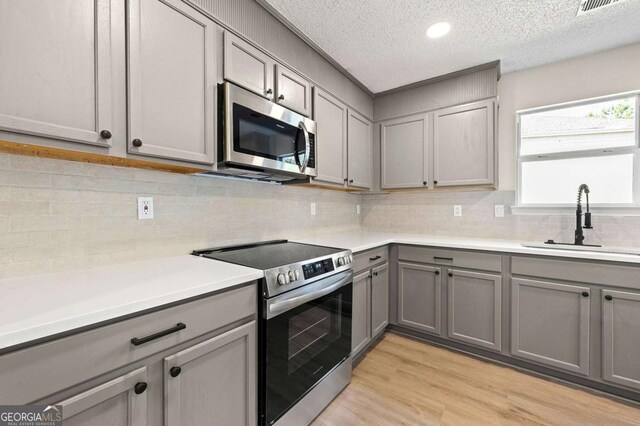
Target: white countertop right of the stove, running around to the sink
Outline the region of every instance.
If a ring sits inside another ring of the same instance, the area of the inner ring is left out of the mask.
[[[587,252],[578,250],[560,250],[524,247],[531,241],[497,240],[489,238],[444,237],[420,234],[347,232],[320,237],[303,238],[303,243],[349,249],[353,252],[369,250],[387,244],[412,244],[452,249],[482,250],[502,253],[529,254],[570,259],[600,260],[606,262],[625,262],[640,264],[639,255]],[[537,241],[538,243],[540,241]]]

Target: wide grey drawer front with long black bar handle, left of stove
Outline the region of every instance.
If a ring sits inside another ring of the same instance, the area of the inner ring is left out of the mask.
[[[26,404],[255,315],[253,285],[120,321],[0,357],[0,401]],[[183,323],[186,328],[135,346]]]

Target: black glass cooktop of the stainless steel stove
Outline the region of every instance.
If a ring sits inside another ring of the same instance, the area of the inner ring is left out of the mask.
[[[291,243],[287,240],[195,250],[193,254],[255,269],[271,269],[343,251],[332,247]]]

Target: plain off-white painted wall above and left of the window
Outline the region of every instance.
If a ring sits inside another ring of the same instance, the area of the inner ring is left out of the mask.
[[[500,189],[516,187],[516,111],[640,89],[640,43],[504,74],[498,82]]]

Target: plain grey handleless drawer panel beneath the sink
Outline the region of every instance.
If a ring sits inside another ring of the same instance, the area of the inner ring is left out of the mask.
[[[640,289],[640,268],[580,261],[513,256],[513,275]]]

